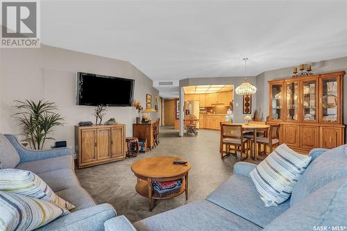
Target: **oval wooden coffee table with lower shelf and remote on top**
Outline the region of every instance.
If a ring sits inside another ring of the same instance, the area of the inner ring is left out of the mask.
[[[149,211],[152,210],[153,199],[167,199],[173,198],[185,192],[185,199],[188,199],[188,172],[190,169],[189,162],[185,165],[175,165],[174,160],[183,160],[183,158],[174,156],[156,156],[137,160],[131,166],[131,171],[137,177],[136,191],[141,196],[149,198]],[[160,197],[155,190],[153,190],[152,182],[175,181],[182,179],[182,186],[180,191],[175,194],[169,194]]]

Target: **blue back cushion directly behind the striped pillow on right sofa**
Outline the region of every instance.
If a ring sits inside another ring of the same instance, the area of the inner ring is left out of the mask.
[[[310,163],[296,183],[290,205],[337,178],[347,176],[347,145],[325,151]]]

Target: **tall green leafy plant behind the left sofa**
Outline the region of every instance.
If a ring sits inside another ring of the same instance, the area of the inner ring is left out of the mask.
[[[26,100],[25,102],[15,100],[15,107],[20,111],[15,116],[23,126],[26,138],[23,141],[31,142],[34,149],[42,149],[46,140],[55,140],[50,137],[53,127],[61,126],[64,120],[54,102],[40,100]]]

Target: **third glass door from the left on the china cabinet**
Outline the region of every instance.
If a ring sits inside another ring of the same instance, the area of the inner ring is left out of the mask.
[[[303,121],[317,120],[317,80],[303,81]]]

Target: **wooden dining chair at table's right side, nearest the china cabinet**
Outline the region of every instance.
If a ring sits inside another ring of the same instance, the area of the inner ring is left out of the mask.
[[[253,138],[251,139],[251,145],[253,145]],[[269,146],[269,154],[273,151],[273,147],[280,145],[280,124],[270,124],[269,133],[267,137],[257,137],[258,155],[262,156],[262,145],[264,149],[264,155],[266,155],[267,147]]]

